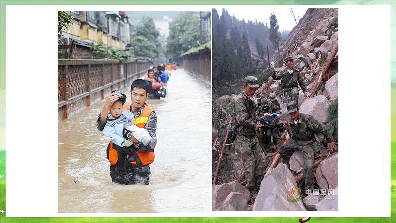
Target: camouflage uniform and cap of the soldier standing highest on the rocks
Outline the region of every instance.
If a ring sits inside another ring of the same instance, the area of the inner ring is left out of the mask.
[[[285,62],[293,60],[292,57],[286,57]],[[290,101],[298,102],[298,85],[300,85],[301,89],[305,93],[307,91],[307,87],[304,82],[304,77],[300,72],[293,68],[293,73],[289,73],[286,70],[283,73],[277,74],[272,72],[272,78],[274,80],[282,79],[280,83],[280,87],[283,90],[283,102],[287,103]]]

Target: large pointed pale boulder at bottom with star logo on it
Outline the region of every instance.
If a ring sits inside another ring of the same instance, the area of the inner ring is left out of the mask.
[[[286,164],[280,163],[276,168],[269,168],[261,181],[253,211],[306,211],[301,200],[287,200],[300,196],[297,192],[291,195],[292,189],[297,189],[297,183]]]

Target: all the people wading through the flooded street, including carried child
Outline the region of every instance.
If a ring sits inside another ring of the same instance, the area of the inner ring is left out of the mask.
[[[169,65],[169,64],[168,64]],[[109,140],[106,149],[111,181],[118,184],[149,184],[150,164],[157,145],[157,115],[146,100],[165,97],[170,70],[161,64],[149,69],[144,79],[131,84],[131,104],[127,96],[113,90],[97,117],[96,126]]]

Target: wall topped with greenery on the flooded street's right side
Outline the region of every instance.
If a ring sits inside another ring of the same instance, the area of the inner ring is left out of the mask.
[[[183,67],[188,72],[207,81],[211,80],[211,51],[201,50],[183,56]]]

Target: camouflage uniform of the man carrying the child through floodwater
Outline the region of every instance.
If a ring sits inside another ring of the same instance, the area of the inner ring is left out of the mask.
[[[137,114],[140,115],[140,113],[142,113],[144,109],[144,106],[145,105],[139,108],[134,113],[134,115]],[[126,107],[126,105],[124,105],[124,107]],[[128,107],[130,108],[130,106]],[[100,123],[100,114],[98,116],[98,119],[96,120],[96,127],[99,131],[103,131],[104,124]],[[149,135],[151,137],[156,137],[157,115],[155,112],[150,113],[144,128],[149,132]],[[131,147],[134,147],[136,149],[146,148],[142,142],[139,142],[137,144],[132,144]],[[149,147],[147,149],[149,149]],[[110,176],[113,182],[116,182],[118,184],[149,184],[151,172],[150,172],[150,167],[148,165],[144,167],[134,166],[129,163],[127,154],[120,152],[118,154],[119,154],[118,163],[115,166],[110,165]]]

